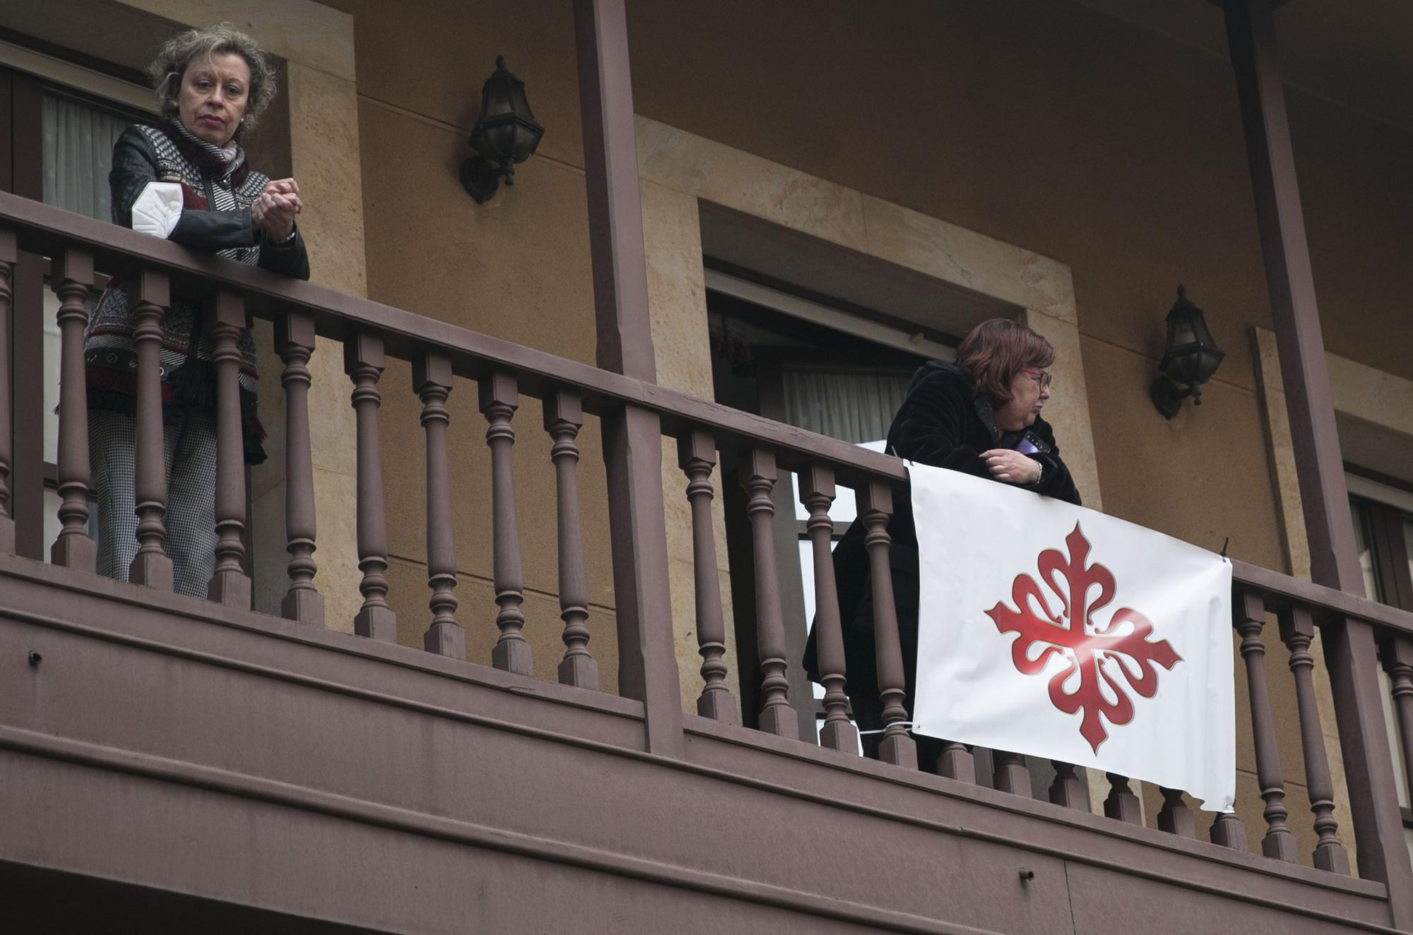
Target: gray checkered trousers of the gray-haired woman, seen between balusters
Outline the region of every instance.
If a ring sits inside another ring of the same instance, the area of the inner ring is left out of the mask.
[[[137,421],[131,415],[89,412],[89,469],[97,499],[97,573],[127,580],[137,555]],[[177,592],[206,596],[216,571],[216,418],[211,412],[167,410],[162,435],[167,468],[167,540]]]

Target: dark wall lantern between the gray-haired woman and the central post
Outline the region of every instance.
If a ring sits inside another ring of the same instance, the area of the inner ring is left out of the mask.
[[[516,184],[516,165],[524,162],[540,145],[544,127],[534,121],[526,102],[526,83],[506,71],[503,55],[496,56],[496,71],[480,88],[480,117],[471,131],[473,155],[461,164],[461,184],[466,193],[485,205],[500,179]]]

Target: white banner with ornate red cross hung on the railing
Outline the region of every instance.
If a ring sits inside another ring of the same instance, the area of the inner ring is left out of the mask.
[[[913,729],[1236,799],[1231,562],[1153,530],[909,465]]]

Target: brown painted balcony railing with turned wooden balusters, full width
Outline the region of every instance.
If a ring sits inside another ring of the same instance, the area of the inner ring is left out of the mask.
[[[218,489],[216,547],[218,562],[209,586],[209,599],[223,605],[250,607],[250,579],[242,571],[244,552],[244,475],[242,468],[240,412],[237,401],[236,350],[237,328],[246,314],[276,322],[276,339],[284,362],[281,383],[285,390],[287,425],[287,504],[285,531],[288,593],[281,605],[287,619],[324,624],[324,606],[314,588],[317,565],[314,487],[308,417],[309,370],[307,363],[315,336],[342,342],[345,370],[350,379],[352,404],[357,434],[357,554],[362,571],[363,606],[353,621],[359,636],[393,641],[396,620],[387,595],[387,531],[383,507],[382,465],[377,443],[377,411],[384,390],[379,377],[387,356],[413,364],[413,391],[421,401],[421,424],[427,446],[427,586],[430,589],[430,626],[424,647],[441,655],[465,658],[466,636],[456,619],[455,554],[451,524],[452,501],[448,475],[448,395],[455,379],[475,380],[479,386],[479,410],[486,419],[486,442],[492,468],[493,493],[493,579],[496,593],[497,641],[492,664],[503,671],[531,675],[530,643],[524,638],[526,619],[520,535],[513,496],[514,415],[521,394],[544,404],[544,431],[552,438],[551,458],[557,486],[560,606],[564,623],[564,655],[558,679],[565,685],[598,689],[601,678],[591,651],[588,586],[584,545],[579,528],[579,492],[577,436],[585,414],[606,417],[637,410],[658,419],[661,432],[677,446],[685,486],[667,496],[684,496],[691,508],[695,613],[702,657],[704,688],[697,703],[704,717],[733,725],[736,703],[728,688],[726,620],[722,614],[716,569],[716,544],[712,532],[712,473],[718,452],[731,452],[740,465],[742,484],[747,494],[746,511],[752,532],[753,579],[756,583],[756,621],[759,644],[757,672],[740,672],[743,681],[759,684],[759,729],[781,737],[798,739],[796,708],[812,699],[790,698],[786,674],[798,660],[787,658],[781,620],[781,596],[777,582],[776,549],[771,535],[771,490],[781,470],[800,477],[800,500],[808,510],[808,535],[812,544],[814,583],[820,668],[825,685],[821,744],[845,756],[856,751],[856,732],[846,713],[844,692],[848,674],[844,662],[839,609],[829,561],[832,523],[828,508],[836,484],[852,487],[859,516],[868,527],[866,548],[873,569],[873,607],[877,655],[877,684],[883,708],[885,734],[880,757],[906,770],[917,770],[917,750],[909,736],[909,712],[903,705],[903,658],[899,647],[897,620],[892,583],[887,573],[887,518],[894,497],[907,496],[907,476],[900,462],[852,445],[814,435],[764,418],[747,415],[706,403],[660,386],[599,370],[578,362],[479,335],[435,319],[390,308],[367,299],[335,292],[308,282],[297,282],[261,270],[236,266],[215,257],[195,254],[175,244],[123,230],[112,225],[71,215],[31,201],[0,193],[0,367],[8,366],[4,345],[11,315],[35,315],[38,309],[11,309],[11,273],[17,251],[52,257],[51,287],[61,298],[58,322],[62,333],[62,390],[59,401],[58,480],[62,506],[59,540],[52,562],[79,572],[92,572],[95,544],[88,524],[88,428],[83,393],[83,295],[93,281],[93,270],[122,275],[134,288],[138,329],[138,401],[136,503],[141,548],[133,562],[131,579],[153,588],[171,589],[171,562],[161,551],[165,530],[162,508],[165,489],[161,469],[161,404],[157,376],[160,321],[172,292],[208,302],[215,323],[218,369]],[[0,551],[13,552],[16,541],[8,475],[11,459],[10,373],[0,373]],[[606,442],[612,443],[612,442]],[[658,484],[658,459],[649,452],[637,462],[651,468],[651,476],[637,482]],[[646,468],[644,468],[646,473]],[[616,497],[627,496],[612,483],[608,490],[610,516]],[[612,524],[615,561],[633,556],[622,548],[622,538],[633,535],[629,524]],[[629,544],[632,545],[632,544]],[[633,558],[630,561],[640,561]],[[1289,828],[1284,805],[1284,775],[1276,743],[1276,717],[1286,712],[1272,708],[1266,689],[1263,629],[1266,614],[1279,620],[1279,637],[1290,648],[1301,750],[1310,790],[1317,843],[1316,867],[1348,873],[1349,859],[1338,839],[1334,784],[1325,757],[1324,732],[1316,701],[1310,645],[1323,627],[1364,621],[1378,637],[1383,665],[1393,684],[1395,706],[1403,736],[1413,739],[1413,614],[1376,605],[1362,597],[1330,590],[1262,568],[1235,562],[1234,627],[1241,637],[1246,682],[1251,688],[1252,736],[1258,780],[1265,802],[1266,823],[1260,850],[1282,862],[1299,862],[1296,839]],[[634,568],[640,572],[640,568]],[[616,569],[619,576],[619,569]],[[627,580],[643,580],[634,573]],[[666,573],[643,586],[666,595]],[[642,645],[640,633],[632,627],[664,627],[663,620],[620,619],[620,647]],[[627,627],[627,630],[625,629]],[[670,641],[670,634],[666,637]],[[661,645],[661,643],[658,643]],[[661,660],[637,660],[625,648],[625,667],[654,665]],[[670,674],[675,679],[675,668]],[[620,675],[625,693],[647,695],[644,679],[632,671]],[[650,723],[675,725],[675,692],[664,702],[663,693],[639,698],[647,706]],[[1337,693],[1341,712],[1341,743],[1345,770],[1369,770],[1379,774],[1379,788],[1386,790],[1372,805],[1354,808],[1348,816],[1358,845],[1361,876],[1395,887],[1413,887],[1406,864],[1392,866],[1388,853],[1390,836],[1402,835],[1402,821],[1393,794],[1388,743],[1381,729],[1378,686]],[[1347,725],[1358,727],[1349,736]],[[650,730],[654,727],[650,727]],[[660,729],[660,727],[657,727]],[[1413,746],[1405,744],[1399,764],[1413,782]],[[962,744],[945,744],[937,771],[952,780],[976,782],[972,753]],[[1088,809],[1084,784],[1068,764],[1056,764],[1050,801]],[[1031,795],[1030,774],[1022,757],[996,753],[993,788],[1017,795]],[[1159,826],[1173,835],[1195,838],[1194,815],[1174,790],[1163,791],[1164,805]],[[1137,823],[1139,801],[1121,775],[1109,777],[1104,804],[1108,816]],[[1210,830],[1214,843],[1245,850],[1246,830],[1235,815],[1218,816]],[[1375,846],[1382,842],[1385,846]]]

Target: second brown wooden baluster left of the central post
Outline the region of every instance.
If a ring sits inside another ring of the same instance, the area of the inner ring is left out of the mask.
[[[495,371],[480,380],[480,411],[486,417],[486,446],[490,448],[492,559],[496,586],[496,627],[500,637],[490,650],[490,664],[506,672],[534,675],[530,644],[526,643],[524,578],[520,572],[520,525],[516,521],[516,476],[510,460],[516,429],[510,419],[520,405],[514,374]]]

